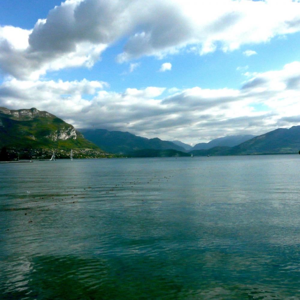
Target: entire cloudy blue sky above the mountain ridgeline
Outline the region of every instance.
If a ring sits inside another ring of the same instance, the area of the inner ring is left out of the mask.
[[[1,0],[0,106],[194,145],[300,125],[299,0]]]

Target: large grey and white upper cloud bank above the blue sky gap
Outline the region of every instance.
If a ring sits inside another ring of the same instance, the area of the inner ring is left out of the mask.
[[[201,55],[232,51],[299,32],[299,10],[292,0],[67,0],[32,30],[0,27],[0,68],[37,80],[49,70],[92,67],[123,38],[119,62],[182,49]]]

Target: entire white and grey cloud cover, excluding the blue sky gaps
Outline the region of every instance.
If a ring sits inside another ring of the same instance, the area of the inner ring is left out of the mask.
[[[299,111],[297,61],[282,70],[247,74],[241,89],[177,87],[170,92],[148,87],[116,93],[105,90],[109,82],[47,81],[41,76],[67,67],[91,68],[121,39],[125,46],[116,56],[119,63],[145,55],[233,51],[299,32],[299,11],[299,1],[290,0],[67,0],[31,30],[0,26],[5,76],[0,105],[48,110],[78,127],[194,142],[199,136],[210,140],[239,130],[259,134],[285,126],[300,119],[294,116]],[[247,51],[247,56],[256,54]],[[132,64],[131,72],[137,66]],[[171,70],[171,64],[164,70]]]

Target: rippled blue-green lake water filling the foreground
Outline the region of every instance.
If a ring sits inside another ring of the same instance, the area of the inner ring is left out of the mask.
[[[299,299],[300,155],[0,164],[1,299]]]

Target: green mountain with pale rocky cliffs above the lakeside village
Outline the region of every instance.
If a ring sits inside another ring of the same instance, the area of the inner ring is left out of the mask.
[[[85,140],[72,125],[46,111],[0,107],[0,148],[3,146],[19,149],[99,149]]]

